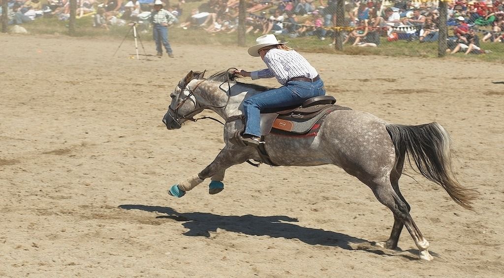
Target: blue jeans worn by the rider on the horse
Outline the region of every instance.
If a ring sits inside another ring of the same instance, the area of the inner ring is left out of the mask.
[[[326,95],[324,82],[289,81],[284,86],[260,92],[243,102],[245,114],[244,134],[261,137],[261,110],[287,108],[300,105],[305,100]]]

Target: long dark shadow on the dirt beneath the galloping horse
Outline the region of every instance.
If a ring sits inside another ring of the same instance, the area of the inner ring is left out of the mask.
[[[345,250],[361,250],[386,256],[399,255],[410,260],[416,260],[418,258],[407,254],[398,254],[395,253],[394,250],[387,250],[392,252],[392,254],[389,252],[386,253],[375,247],[375,242],[343,233],[302,227],[293,224],[298,222],[296,218],[285,215],[256,216],[248,214],[242,216],[225,216],[201,212],[179,213],[169,207],[145,205],[120,205],[119,208],[166,214],[157,216],[156,218],[167,218],[183,222],[182,226],[188,229],[187,232],[183,233],[185,236],[210,237],[210,234],[212,232],[217,232],[219,228],[229,232],[243,233],[251,236],[298,239],[310,245],[333,246]],[[397,249],[396,251],[402,250]],[[413,255],[418,255],[418,250],[410,249],[407,251]]]

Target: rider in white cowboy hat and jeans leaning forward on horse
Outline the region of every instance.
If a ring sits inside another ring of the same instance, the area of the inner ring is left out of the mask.
[[[243,102],[245,131],[241,139],[247,145],[258,146],[261,139],[261,110],[299,105],[307,99],[324,96],[326,89],[317,70],[295,50],[278,42],[275,35],[261,36],[256,42],[256,45],[248,48],[248,54],[261,56],[268,68],[257,71],[238,69],[234,73],[250,76],[252,79],[275,76],[283,85],[261,92]]]

